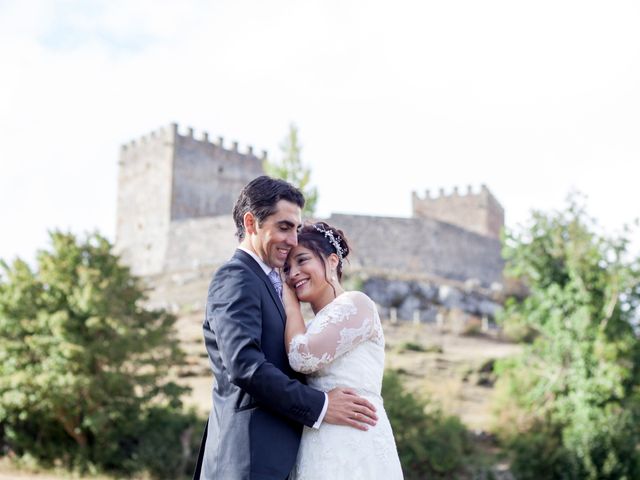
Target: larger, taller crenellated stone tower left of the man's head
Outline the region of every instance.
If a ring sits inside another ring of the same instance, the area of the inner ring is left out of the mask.
[[[263,152],[263,158],[266,152]],[[194,138],[171,124],[122,146],[118,173],[116,249],[136,275],[160,273],[173,222],[230,215],[238,192],[263,175],[262,160]]]

